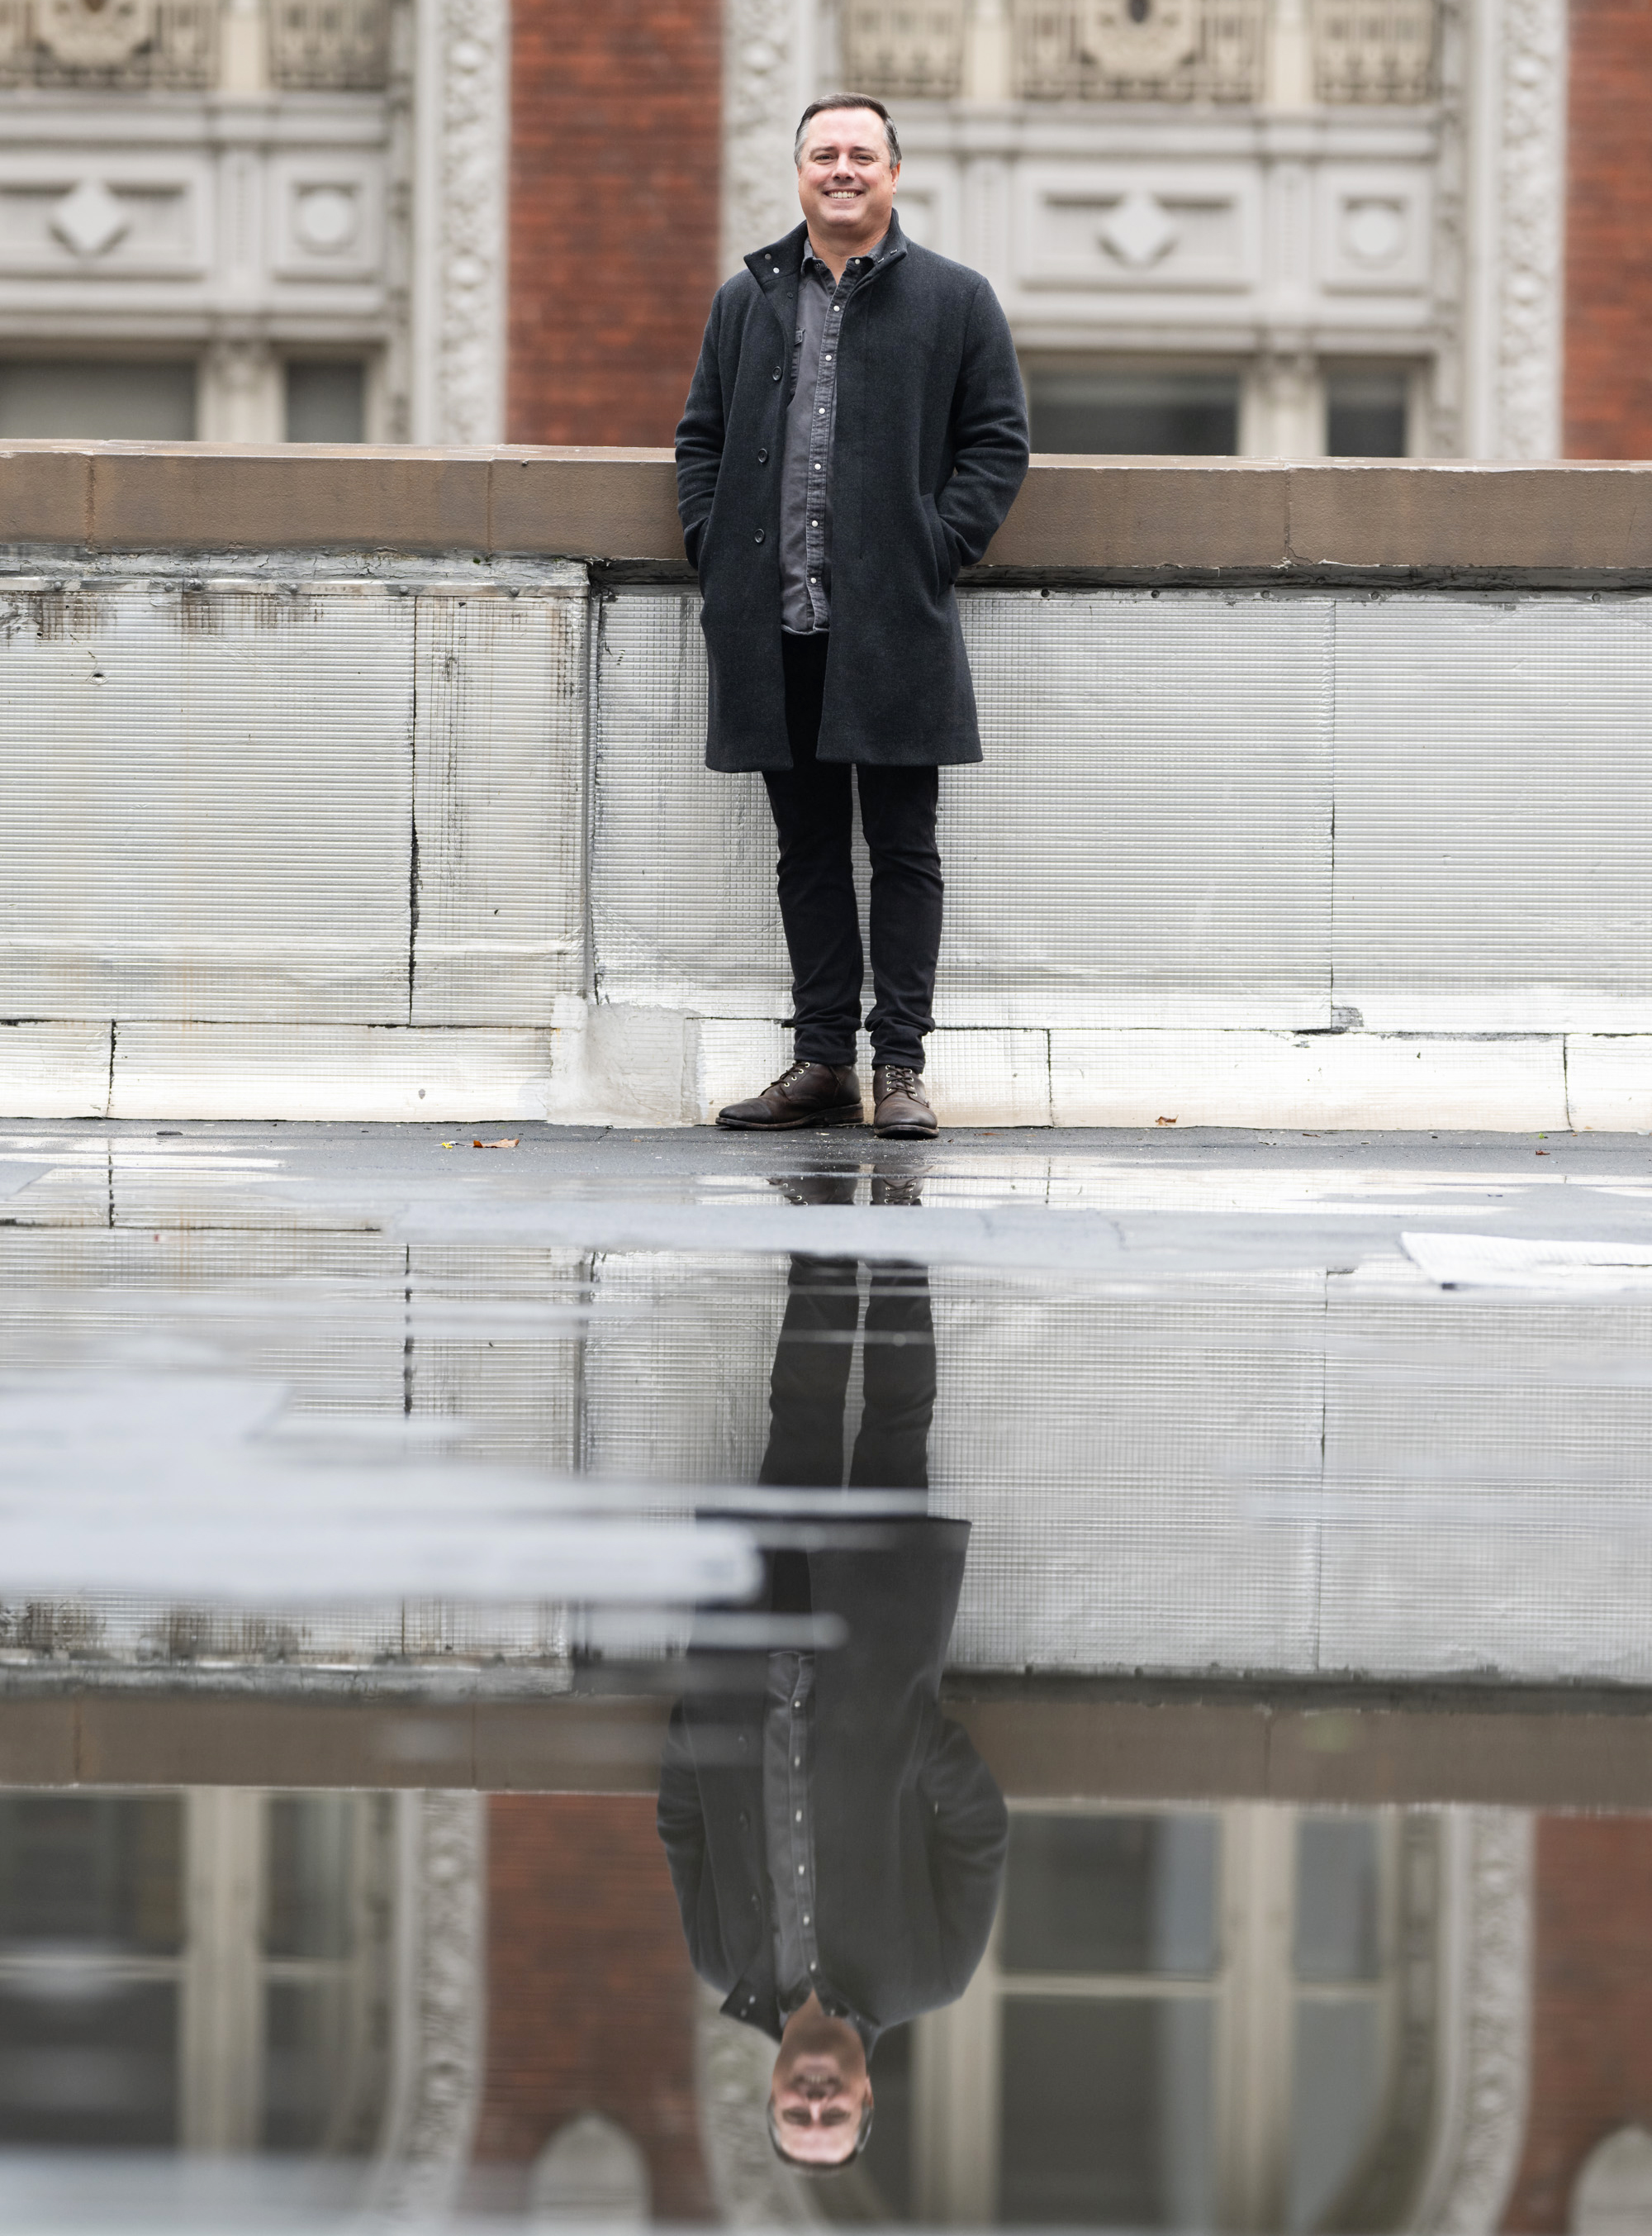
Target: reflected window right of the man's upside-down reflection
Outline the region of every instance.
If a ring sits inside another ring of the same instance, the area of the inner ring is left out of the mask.
[[[917,2028],[917,2218],[1399,2225],[1433,1952],[1431,1818],[1017,1809],[993,1948]]]

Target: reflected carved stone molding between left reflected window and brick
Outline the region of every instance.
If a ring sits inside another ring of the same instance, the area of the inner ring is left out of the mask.
[[[485,1807],[478,1793],[402,1800],[396,2084],[369,2229],[445,2218],[469,2164],[487,2044]]]

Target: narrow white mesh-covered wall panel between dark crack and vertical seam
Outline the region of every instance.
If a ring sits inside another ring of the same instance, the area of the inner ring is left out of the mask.
[[[414,1024],[550,1024],[583,991],[588,610],[418,599]]]

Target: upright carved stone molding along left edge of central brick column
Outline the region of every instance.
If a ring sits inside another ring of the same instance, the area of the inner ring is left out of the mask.
[[[414,440],[505,432],[507,0],[420,0]]]

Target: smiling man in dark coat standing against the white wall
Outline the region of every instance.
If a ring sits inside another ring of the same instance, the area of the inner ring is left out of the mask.
[[[796,165],[803,224],[718,291],[677,427],[706,765],[762,769],[769,787],[796,1031],[796,1062],[718,1125],[865,1118],[854,769],[872,856],[872,1122],[925,1136],[939,769],[981,758],[952,584],[1026,474],[1026,398],[988,282],[901,233],[883,103],[811,103]]]

